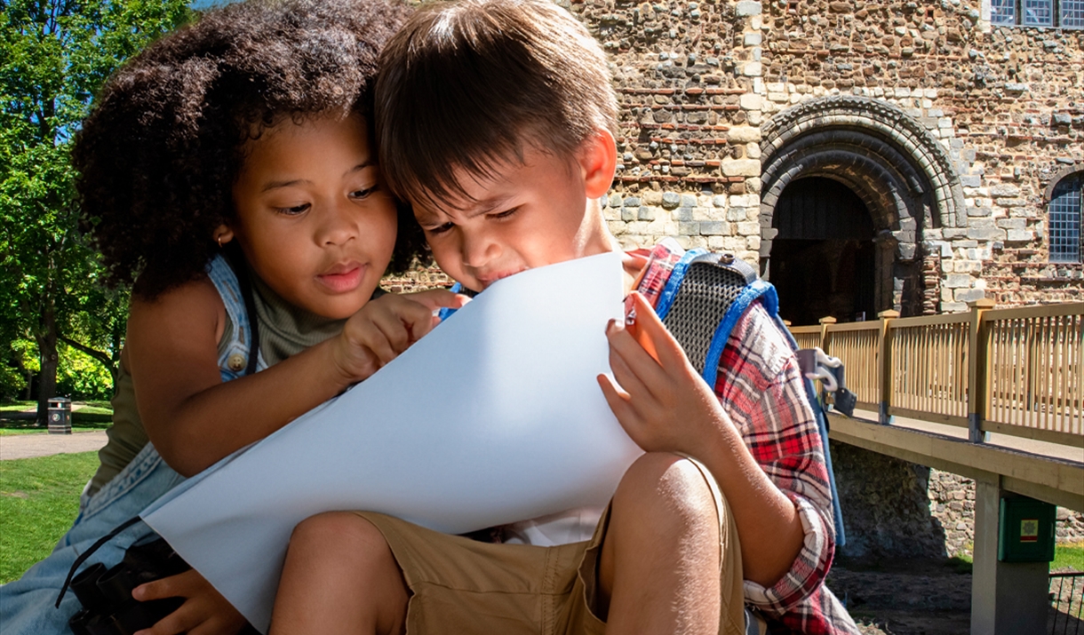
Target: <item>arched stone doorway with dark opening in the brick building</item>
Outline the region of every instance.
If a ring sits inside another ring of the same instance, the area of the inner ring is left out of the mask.
[[[762,133],[760,265],[784,316],[810,324],[935,312],[940,277],[924,270],[939,271],[940,255],[927,254],[926,232],[966,226],[941,142],[901,108],[854,95],[798,104]],[[809,225],[809,215],[824,226]]]

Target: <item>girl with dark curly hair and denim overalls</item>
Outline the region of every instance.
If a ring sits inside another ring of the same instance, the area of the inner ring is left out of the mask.
[[[371,139],[390,0],[254,0],[211,11],[112,77],[79,132],[82,226],[113,283],[136,278],[114,426],[73,528],[0,587],[4,633],[66,633],[76,557],[182,481],[360,381],[427,333],[449,291],[376,297],[421,244]],[[267,371],[255,373],[263,367]],[[289,469],[289,466],[283,466]],[[150,533],[124,530],[88,565]],[[85,567],[86,565],[83,565]],[[155,634],[244,620],[194,571]]]

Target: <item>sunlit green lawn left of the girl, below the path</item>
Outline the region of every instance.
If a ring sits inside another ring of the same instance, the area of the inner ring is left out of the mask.
[[[0,462],[0,583],[49,555],[95,469],[96,452]]]

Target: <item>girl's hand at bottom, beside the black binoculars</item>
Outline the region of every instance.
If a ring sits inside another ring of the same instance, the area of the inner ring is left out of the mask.
[[[184,573],[141,584],[132,589],[140,601],[183,597],[184,604],[150,628],[136,635],[235,635],[245,618],[207,580],[190,569]]]

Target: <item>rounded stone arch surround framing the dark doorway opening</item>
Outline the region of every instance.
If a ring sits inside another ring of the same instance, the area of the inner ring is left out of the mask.
[[[761,268],[770,274],[772,218],[796,180],[823,177],[851,189],[876,232],[878,306],[922,311],[920,245],[928,228],[963,228],[964,193],[941,143],[902,109],[861,96],[810,100],[762,128]],[[935,289],[934,289],[935,290]]]

